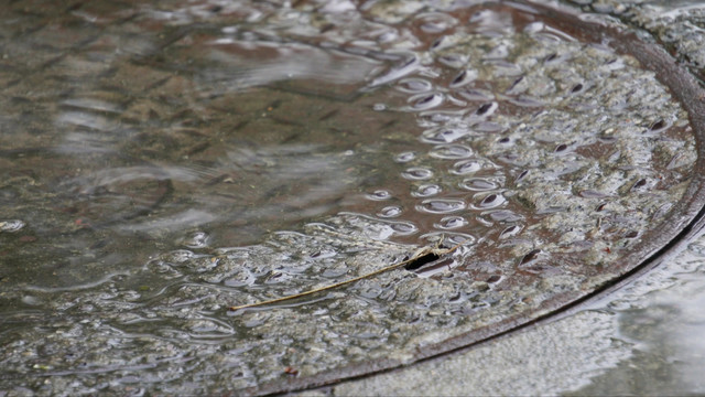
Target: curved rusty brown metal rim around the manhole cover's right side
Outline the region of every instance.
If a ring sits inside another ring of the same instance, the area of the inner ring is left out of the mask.
[[[588,41],[594,42],[609,42],[610,45],[619,52],[634,56],[644,67],[657,72],[660,82],[666,84],[673,95],[681,101],[681,104],[683,104],[684,108],[687,109],[688,119],[694,128],[695,137],[698,141],[698,148],[702,147],[702,133],[704,131],[703,127],[705,127],[702,117],[704,110],[702,106],[703,90],[699,88],[697,82],[685,69],[679,67],[661,49],[641,42],[633,34],[625,34],[623,32],[612,30],[605,25],[583,23],[577,18],[572,18],[562,13],[554,13],[546,9],[542,9],[542,14],[544,17],[549,17],[549,20],[551,21],[550,23],[553,26],[571,32],[577,36],[582,36],[583,40],[587,39]],[[574,30],[576,28],[579,33]],[[475,329],[453,339],[444,340],[440,343],[419,348],[414,354],[413,361],[432,357],[444,352],[468,346],[512,330],[519,325],[536,321],[544,314],[547,315],[553,311],[564,308],[568,303],[577,302],[582,298],[598,292],[600,288],[618,281],[620,276],[637,269],[639,266],[644,266],[646,261],[657,257],[659,251],[664,250],[664,247],[668,249],[671,242],[677,240],[679,235],[685,236],[690,233],[688,224],[696,218],[698,213],[702,211],[704,203],[704,195],[702,191],[703,181],[702,176],[699,176],[702,171],[698,171],[702,170],[702,167],[703,160],[702,158],[698,158],[693,180],[688,184],[681,202],[679,202],[673,212],[670,213],[671,216],[666,222],[661,224],[659,228],[651,229],[646,233],[643,235],[643,240],[639,244],[622,251],[621,254],[623,256],[620,257],[619,260],[616,260],[611,266],[608,266],[607,269],[604,269],[604,273],[610,275],[611,278],[605,279],[604,282],[595,285],[594,290],[575,290],[565,294],[555,294],[544,301],[541,308],[538,308],[534,312],[531,312],[528,315],[510,315],[501,321],[492,323],[490,326]],[[379,372],[401,364],[402,363],[393,360],[366,362],[311,378],[272,383],[264,387],[253,389],[252,391],[257,394],[268,394],[271,391],[311,387],[312,385],[323,385],[338,379]]]

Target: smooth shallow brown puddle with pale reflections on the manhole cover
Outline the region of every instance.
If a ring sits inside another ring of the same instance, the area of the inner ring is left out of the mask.
[[[238,24],[215,35],[180,41],[175,32],[175,42],[158,44],[162,21],[175,23],[167,15],[195,11],[150,8],[10,8],[17,19],[6,25],[3,49],[2,218],[24,226],[6,235],[3,259],[44,270],[17,273],[15,282],[79,286],[177,248],[184,229],[207,225],[209,244],[241,245],[334,214],[364,201],[365,174],[387,158],[368,131],[414,128],[395,115],[371,117],[371,104],[357,100],[379,62],[260,40],[263,32],[242,32],[247,23],[235,17]],[[158,25],[148,25],[148,15]],[[82,20],[90,23],[72,25]],[[96,24],[111,28],[100,33]],[[166,69],[143,65],[139,56],[163,46]],[[32,63],[46,53],[56,57]],[[182,75],[186,68],[193,75]],[[314,79],[316,95],[334,100],[288,94],[301,92],[292,84],[249,88],[281,79]],[[340,121],[348,119],[357,122]]]

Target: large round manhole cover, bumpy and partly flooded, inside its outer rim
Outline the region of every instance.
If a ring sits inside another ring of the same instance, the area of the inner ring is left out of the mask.
[[[403,4],[12,10],[2,387],[268,393],[408,364],[590,293],[699,210],[701,121],[673,98],[697,90],[653,47],[538,7]],[[416,272],[227,311],[442,237],[463,249]]]

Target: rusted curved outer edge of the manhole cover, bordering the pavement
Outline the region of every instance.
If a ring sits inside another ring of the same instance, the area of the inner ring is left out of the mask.
[[[238,394],[267,396],[318,388],[343,380],[389,372],[507,335],[529,325],[553,319],[568,309],[575,309],[587,300],[612,291],[623,283],[626,277],[639,276],[655,267],[664,258],[670,257],[670,253],[680,249],[685,237],[692,237],[705,227],[705,212],[703,210],[705,206],[705,90],[699,87],[697,79],[663,49],[643,42],[634,33],[625,33],[614,26],[586,22],[567,8],[558,10],[531,1],[513,1],[511,3],[521,4],[524,9],[530,7],[536,10],[541,13],[542,19],[558,29],[571,32],[579,30],[581,34],[590,42],[608,43],[617,52],[633,56],[646,69],[654,72],[657,78],[669,87],[671,94],[688,114],[698,153],[692,181],[683,198],[674,205],[668,218],[659,227],[647,232],[640,243],[628,249],[620,260],[606,269],[606,271],[615,273],[616,277],[592,291],[575,291],[555,296],[530,313],[522,313],[449,337],[441,343],[419,347],[413,357],[405,362],[392,358],[370,360],[333,368],[313,376],[272,380],[238,390]]]

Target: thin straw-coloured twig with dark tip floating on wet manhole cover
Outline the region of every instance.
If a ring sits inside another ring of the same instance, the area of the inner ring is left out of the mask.
[[[375,277],[377,275],[381,275],[383,272],[393,270],[393,269],[398,269],[402,266],[408,266],[417,261],[424,261],[424,262],[429,262],[432,260],[435,260],[437,258],[440,258],[443,255],[447,255],[451,254],[453,251],[455,251],[456,249],[458,249],[460,246],[463,245],[463,243],[459,243],[458,245],[456,245],[455,247],[452,248],[441,248],[441,242],[438,242],[438,244],[436,244],[434,247],[423,247],[416,250],[416,253],[414,253],[414,255],[405,260],[402,260],[400,262],[393,264],[393,265],[389,265],[386,266],[381,269],[375,270],[375,271],[370,271],[368,273],[365,273],[362,276],[358,276],[358,277],[354,277],[349,280],[345,280],[345,281],[340,281],[340,282],[336,282],[333,283],[330,286],[326,286],[326,287],[321,287],[321,288],[314,288],[312,290],[308,291],[304,291],[304,292],[300,292],[300,293],[294,293],[291,296],[286,296],[286,297],[281,297],[281,298],[275,298],[275,299],[270,299],[270,300],[265,300],[265,301],[261,301],[261,302],[254,302],[254,303],[247,303],[247,304],[240,304],[240,305],[235,305],[235,307],[230,307],[230,311],[236,311],[236,310],[240,310],[240,309],[248,309],[248,308],[257,308],[257,307],[263,307],[263,305],[268,305],[268,304],[272,304],[272,303],[279,303],[279,302],[283,302],[283,301],[289,301],[289,300],[293,300],[293,299],[299,299],[299,298],[303,298],[303,297],[307,297],[314,293],[318,293],[318,292],[323,292],[323,291],[328,291],[338,287],[343,287],[343,286],[347,286],[349,283],[356,282],[356,281],[360,281],[370,277]],[[435,256],[435,258],[433,258]],[[431,260],[429,260],[431,257]]]

